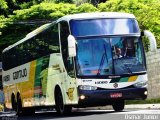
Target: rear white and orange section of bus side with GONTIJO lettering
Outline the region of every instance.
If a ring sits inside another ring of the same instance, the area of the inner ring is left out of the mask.
[[[25,103],[31,102],[34,94],[34,71],[36,61],[26,63],[19,67],[3,71],[3,85],[5,93],[5,104],[7,108],[11,108],[11,99],[16,100],[17,93],[23,93],[21,99]],[[22,92],[23,91],[23,92]],[[25,104],[24,104],[25,106]]]

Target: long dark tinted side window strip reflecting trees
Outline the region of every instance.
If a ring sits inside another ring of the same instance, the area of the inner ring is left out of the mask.
[[[3,53],[3,69],[8,70],[34,59],[59,52],[58,25],[55,24]]]

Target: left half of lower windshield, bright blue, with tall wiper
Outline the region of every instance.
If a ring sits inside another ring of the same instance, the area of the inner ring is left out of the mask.
[[[78,40],[79,75],[112,74],[112,54],[107,38]]]

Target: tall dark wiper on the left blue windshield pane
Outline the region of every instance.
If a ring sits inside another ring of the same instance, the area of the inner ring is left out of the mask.
[[[105,44],[103,45],[103,48],[104,48],[104,53],[103,53],[102,58],[101,58],[101,62],[100,62],[100,65],[99,65],[99,69],[98,69],[97,75],[100,75],[100,72],[101,72],[101,69],[103,67],[105,58],[106,58],[107,63],[108,63],[108,56],[107,56],[107,51],[106,51]]]

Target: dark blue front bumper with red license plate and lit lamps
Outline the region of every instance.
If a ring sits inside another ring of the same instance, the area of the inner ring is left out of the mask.
[[[118,100],[143,100],[146,98],[146,88],[79,90],[79,105],[83,107],[112,105],[113,102]]]

